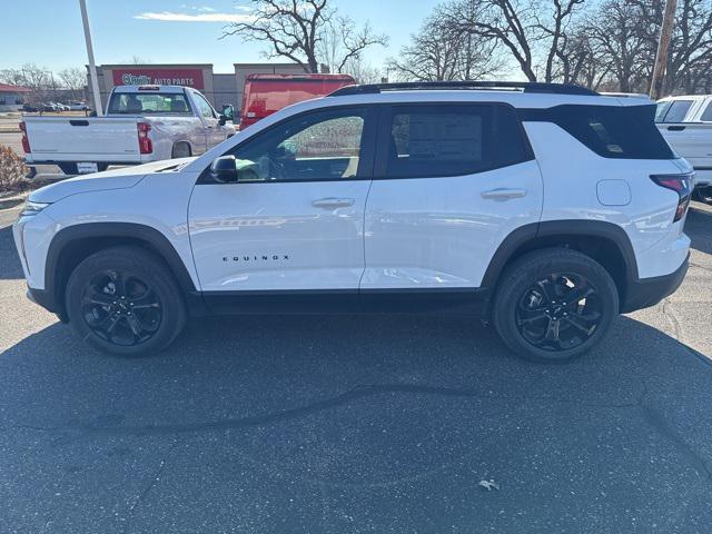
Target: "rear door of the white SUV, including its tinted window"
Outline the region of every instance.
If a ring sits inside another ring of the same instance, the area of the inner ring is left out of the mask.
[[[540,219],[540,169],[508,106],[393,106],[377,146],[364,293],[471,291],[504,238]]]

